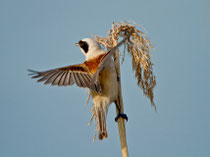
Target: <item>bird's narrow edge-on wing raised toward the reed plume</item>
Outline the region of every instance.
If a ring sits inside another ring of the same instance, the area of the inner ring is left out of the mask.
[[[132,33],[132,31],[120,43],[118,43],[114,48],[112,48],[110,51],[108,51],[106,53],[106,55],[102,58],[101,63],[99,65],[97,71],[93,75],[93,79],[92,79],[92,83],[91,83],[92,85],[97,83],[98,76],[99,76],[101,70],[106,65],[107,60],[109,60],[109,58],[111,58],[114,55],[115,51],[130,37],[131,33]]]

